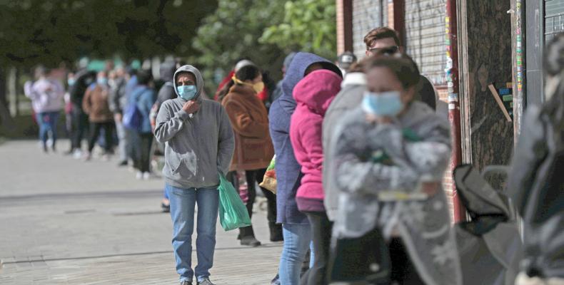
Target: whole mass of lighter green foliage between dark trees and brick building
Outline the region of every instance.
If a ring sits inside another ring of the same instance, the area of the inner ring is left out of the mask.
[[[228,71],[248,58],[280,78],[291,51],[336,56],[335,14],[334,0],[220,0],[198,28],[193,62],[211,78],[217,68]]]

